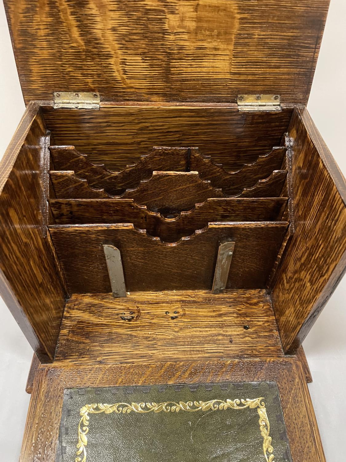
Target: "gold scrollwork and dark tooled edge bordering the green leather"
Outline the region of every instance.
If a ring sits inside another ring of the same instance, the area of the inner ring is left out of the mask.
[[[75,462],[91,462],[88,459],[87,445],[89,433],[89,421],[92,414],[129,414],[129,413],[178,413],[178,412],[205,412],[205,411],[226,411],[228,409],[240,411],[244,409],[252,409],[258,413],[258,431],[261,433],[263,443],[263,461],[275,462],[277,459],[274,453],[274,444],[272,443],[272,437],[270,434],[270,422],[267,415],[265,398],[258,396],[257,398],[247,398],[245,396],[230,399],[231,396],[225,399],[214,398],[208,401],[162,401],[162,402],[114,402],[111,404],[102,402],[90,402],[96,401],[95,395],[105,395],[107,393],[116,394],[117,390],[126,390],[127,394],[132,394],[136,390],[140,389],[144,393],[149,393],[151,390],[156,389],[158,393],[163,392],[167,389],[179,392],[183,387],[186,387],[192,392],[197,391],[199,387],[203,387],[207,391],[213,390],[213,387],[220,387],[221,390],[228,390],[230,386],[236,389],[238,392],[242,391],[244,385],[251,385],[253,390],[259,390],[260,384],[265,383],[269,389],[276,389],[276,395],[273,401],[279,405],[280,412],[276,413],[275,424],[281,424],[284,429],[279,438],[285,442],[286,450],[285,455],[280,461],[292,462],[292,457],[289,449],[289,442],[286,435],[286,426],[282,414],[282,407],[280,402],[280,395],[277,389],[276,382],[244,382],[244,383],[204,383],[204,384],[178,384],[178,385],[162,385],[162,386],[133,386],[133,387],[98,387],[98,388],[83,388],[83,389],[65,389],[64,391],[64,405],[62,411],[62,418],[60,424],[60,434],[58,450],[56,455],[56,462],[64,462],[64,455],[66,453],[66,445],[63,443],[64,435],[68,435],[73,430],[76,433],[76,453]],[[234,390],[233,390],[234,393]],[[69,428],[66,426],[66,419],[71,415],[71,408],[66,402],[72,400],[74,397],[85,396],[85,404],[80,408],[78,417],[78,428]],[[240,396],[240,394],[238,395]],[[94,400],[90,400],[93,397]],[[101,396],[100,396],[101,398]],[[234,396],[233,396],[234,398]],[[101,401],[101,400],[99,400]],[[130,400],[129,400],[130,401]],[[279,461],[278,461],[279,462]]]

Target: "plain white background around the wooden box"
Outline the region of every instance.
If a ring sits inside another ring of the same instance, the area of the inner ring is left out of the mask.
[[[346,174],[346,2],[331,0],[308,104]],[[24,112],[5,12],[0,5],[0,158]],[[328,242],[326,242],[328,246]],[[340,249],[341,252],[341,249]],[[346,430],[346,278],[304,341],[309,385],[327,461],[344,462]],[[0,299],[0,460],[18,461],[30,395],[25,383],[32,350]],[[304,438],[304,437],[303,437]]]

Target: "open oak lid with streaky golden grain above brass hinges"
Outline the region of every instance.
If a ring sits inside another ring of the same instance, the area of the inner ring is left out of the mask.
[[[25,102],[307,103],[329,0],[5,0]]]

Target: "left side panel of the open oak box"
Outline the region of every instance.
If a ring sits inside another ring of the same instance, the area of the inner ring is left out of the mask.
[[[41,361],[54,357],[66,295],[45,224],[46,141],[30,103],[0,164],[0,293]]]

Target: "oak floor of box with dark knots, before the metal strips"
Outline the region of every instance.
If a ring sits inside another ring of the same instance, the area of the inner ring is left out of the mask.
[[[265,291],[174,291],[117,299],[74,294],[66,304],[55,360],[134,364],[282,355]]]

